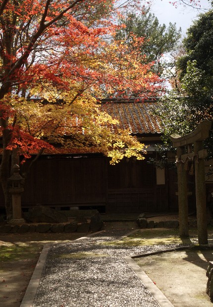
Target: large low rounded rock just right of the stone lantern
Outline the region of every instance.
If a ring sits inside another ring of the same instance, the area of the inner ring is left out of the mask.
[[[68,219],[58,210],[38,205],[29,209],[28,220],[33,223],[64,223]]]

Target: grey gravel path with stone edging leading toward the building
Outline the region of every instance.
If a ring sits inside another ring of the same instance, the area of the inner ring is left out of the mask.
[[[174,247],[105,245],[128,230],[52,245],[32,307],[159,307],[124,256]]]

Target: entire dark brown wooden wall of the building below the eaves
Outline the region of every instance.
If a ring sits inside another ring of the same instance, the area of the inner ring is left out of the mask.
[[[22,205],[87,206],[106,213],[167,211],[168,200],[176,196],[165,179],[157,185],[156,168],[146,160],[109,165],[99,154],[42,156],[30,170]],[[172,204],[177,209],[177,202]]]

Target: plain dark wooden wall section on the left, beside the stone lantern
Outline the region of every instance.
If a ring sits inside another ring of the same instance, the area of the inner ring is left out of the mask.
[[[106,160],[60,156],[39,159],[26,180],[22,204],[84,205],[106,202]]]

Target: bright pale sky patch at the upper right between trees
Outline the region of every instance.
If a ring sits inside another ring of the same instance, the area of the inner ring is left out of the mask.
[[[161,25],[176,22],[177,28],[181,27],[183,36],[185,36],[186,30],[196,19],[196,16],[201,12],[205,12],[205,10],[193,9],[182,4],[178,4],[177,8],[175,8],[169,1],[172,0],[154,0],[151,10],[158,17]],[[210,8],[208,0],[200,0],[200,4],[203,8]]]

